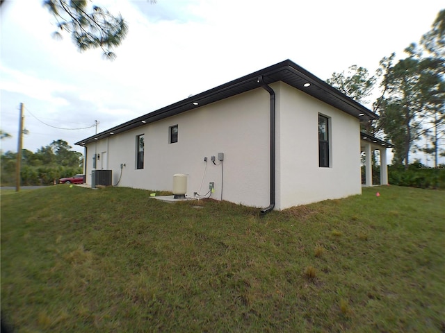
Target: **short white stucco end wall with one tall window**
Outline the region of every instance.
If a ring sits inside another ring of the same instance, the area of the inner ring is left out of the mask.
[[[359,120],[285,83],[275,92],[277,209],[361,194]],[[318,167],[318,114],[330,119],[329,168]]]

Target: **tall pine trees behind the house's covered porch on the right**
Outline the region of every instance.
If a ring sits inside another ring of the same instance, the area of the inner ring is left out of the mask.
[[[439,168],[445,156],[445,10],[441,10],[419,44],[405,49],[406,58],[396,54],[382,58],[377,71],[353,65],[333,73],[327,83],[359,103],[380,88],[373,101],[378,121],[362,123],[362,130],[394,144],[392,164],[410,169],[410,154],[422,151]]]

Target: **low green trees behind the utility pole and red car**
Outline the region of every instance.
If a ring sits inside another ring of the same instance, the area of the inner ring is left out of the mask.
[[[54,140],[33,153],[22,150],[20,178],[22,185],[52,185],[59,178],[82,173],[83,155],[71,150],[66,141]],[[1,153],[1,186],[15,185],[17,153]]]

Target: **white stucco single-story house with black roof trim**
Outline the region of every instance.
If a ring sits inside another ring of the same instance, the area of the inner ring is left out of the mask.
[[[85,147],[87,184],[104,169],[112,185],[171,191],[184,173],[189,197],[268,212],[361,194],[361,148],[384,156],[386,147],[363,139],[360,121],[377,118],[285,60],[76,144]]]

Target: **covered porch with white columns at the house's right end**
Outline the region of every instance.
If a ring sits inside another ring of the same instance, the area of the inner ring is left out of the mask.
[[[373,185],[388,185],[388,162],[387,148],[393,145],[377,137],[373,137],[364,132],[360,132],[360,150],[364,153],[364,173],[365,179],[362,185],[365,187]],[[379,151],[380,155],[380,183],[373,183],[373,152]]]

